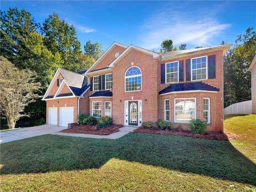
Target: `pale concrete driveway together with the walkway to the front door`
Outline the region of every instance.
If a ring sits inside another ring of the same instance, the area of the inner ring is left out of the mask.
[[[129,132],[132,132],[137,127],[122,127],[118,132],[110,135],[93,135],[93,134],[78,134],[78,133],[60,133],[59,131],[66,129],[67,127],[57,127],[56,125],[41,125],[27,128],[20,128],[8,131],[0,132],[0,144],[10,141],[21,140],[24,138],[30,138],[34,136],[40,136],[45,134],[72,136],[72,137],[84,137],[84,138],[97,138],[97,139],[118,139]]]

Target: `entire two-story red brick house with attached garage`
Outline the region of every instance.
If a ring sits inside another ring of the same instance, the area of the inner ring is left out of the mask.
[[[158,54],[114,42],[87,71],[56,71],[43,98],[46,123],[67,126],[83,112],[125,126],[166,120],[186,129],[199,118],[222,132],[223,55],[231,45]]]

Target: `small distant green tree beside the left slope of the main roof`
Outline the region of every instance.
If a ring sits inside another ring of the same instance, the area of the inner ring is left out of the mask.
[[[86,42],[86,45],[84,46],[84,54],[94,59],[98,59],[103,53],[104,50],[102,44],[99,44],[98,42],[92,44],[90,40]]]

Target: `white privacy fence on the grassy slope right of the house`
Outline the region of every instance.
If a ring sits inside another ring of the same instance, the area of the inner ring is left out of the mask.
[[[224,108],[226,114],[252,114],[252,100],[232,104]]]

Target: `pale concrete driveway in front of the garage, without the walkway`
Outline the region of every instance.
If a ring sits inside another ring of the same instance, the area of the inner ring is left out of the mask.
[[[67,129],[67,127],[57,127],[56,125],[40,125],[14,129],[10,131],[2,131],[0,132],[0,144],[34,136],[56,133],[63,129]]]

